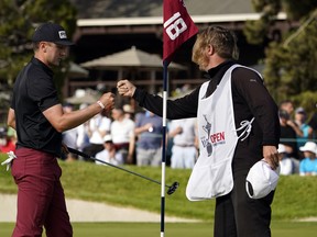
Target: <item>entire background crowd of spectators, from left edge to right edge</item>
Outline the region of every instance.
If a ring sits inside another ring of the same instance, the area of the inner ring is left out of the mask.
[[[84,109],[88,104],[80,104]],[[65,112],[74,104],[65,103]],[[281,174],[317,174],[317,113],[310,117],[292,101],[280,103],[281,138],[278,145]],[[150,111],[134,113],[124,104],[111,114],[99,113],[78,127],[63,133],[66,146],[112,165],[161,166],[162,117]],[[174,169],[192,169],[198,157],[196,119],[167,121],[166,163]],[[17,134],[0,127],[0,151],[15,150]],[[92,161],[66,154],[63,160]],[[96,162],[98,165],[102,162]]]

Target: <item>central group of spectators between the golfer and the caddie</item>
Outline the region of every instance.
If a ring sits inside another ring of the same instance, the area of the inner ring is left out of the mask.
[[[65,104],[65,112],[73,110],[72,106]],[[134,113],[130,104],[124,104],[116,106],[111,115],[100,113],[79,127],[63,133],[63,142],[68,147],[113,165],[158,167],[162,160],[162,117],[150,111]],[[194,167],[197,159],[196,128],[196,119],[167,123],[167,166],[175,169]],[[73,154],[62,159],[94,161]]]

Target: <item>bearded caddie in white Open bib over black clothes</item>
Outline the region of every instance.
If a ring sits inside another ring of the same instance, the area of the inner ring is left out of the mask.
[[[198,119],[199,158],[186,195],[196,201],[216,198],[214,236],[269,237],[274,192],[250,199],[245,178],[263,158],[272,169],[278,166],[277,106],[260,74],[237,64],[237,58],[232,32],[210,26],[199,33],[192,59],[210,79],[188,95],[167,100],[167,119]],[[162,116],[161,97],[128,80],[117,87],[121,95]]]

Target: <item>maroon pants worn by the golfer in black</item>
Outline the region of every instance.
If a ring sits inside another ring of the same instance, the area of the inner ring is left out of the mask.
[[[18,184],[18,214],[12,237],[70,237],[73,228],[59,178],[61,167],[47,153],[19,148],[12,163]]]

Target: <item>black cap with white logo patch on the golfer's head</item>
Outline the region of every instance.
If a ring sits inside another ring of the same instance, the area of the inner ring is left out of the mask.
[[[47,22],[35,29],[32,37],[33,42],[53,42],[58,45],[74,45],[67,38],[66,31],[59,24]]]

